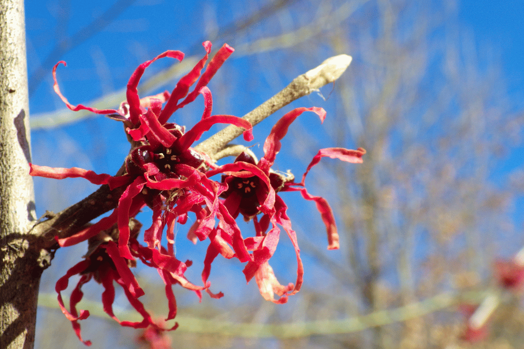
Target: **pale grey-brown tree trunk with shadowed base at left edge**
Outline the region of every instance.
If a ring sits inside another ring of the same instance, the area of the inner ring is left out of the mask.
[[[43,268],[30,249],[35,204],[23,0],[0,0],[0,348],[32,348]]]

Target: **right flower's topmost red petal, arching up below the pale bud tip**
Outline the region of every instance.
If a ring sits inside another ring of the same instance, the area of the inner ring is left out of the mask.
[[[286,136],[289,125],[291,125],[291,123],[304,111],[314,112],[320,117],[320,121],[322,122],[326,117],[325,110],[318,107],[296,108],[281,117],[280,120],[275,123],[275,126],[271,129],[271,133],[269,133],[269,136],[266,138],[266,142],[264,143],[264,157],[262,157],[258,162],[258,167],[260,167],[264,172],[267,173],[269,168],[275,163],[275,157],[282,147],[280,140]]]

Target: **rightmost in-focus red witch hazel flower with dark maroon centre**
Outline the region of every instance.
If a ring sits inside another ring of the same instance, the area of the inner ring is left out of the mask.
[[[344,148],[321,149],[313,157],[307,167],[300,183],[294,182],[294,176],[288,173],[279,173],[272,170],[276,155],[281,149],[280,140],[286,136],[291,123],[304,111],[312,111],[319,116],[321,122],[324,121],[326,112],[322,108],[297,108],[284,115],[272,128],[269,136],[264,143],[264,156],[257,162],[254,154],[246,151],[237,156],[232,164],[219,166],[206,172],[208,177],[222,173],[222,183],[227,184],[227,190],[221,193],[224,198],[223,205],[233,218],[243,215],[246,221],[253,219],[256,236],[245,239],[245,245],[252,251],[252,260],[248,261],[244,268],[247,282],[255,277],[260,294],[269,301],[284,303],[289,295],[293,295],[300,290],[303,281],[303,265],[300,258],[300,249],[297,241],[297,234],[291,228],[291,220],[287,216],[287,205],[278,195],[279,192],[298,191],[306,200],[312,200],[321,214],[328,234],[328,249],[339,248],[339,235],[337,233],[333,211],[323,197],[313,196],[308,193],[304,186],[305,177],[311,168],[318,164],[322,157],[328,156],[350,163],[362,163],[362,156],[366,151],[362,148],[350,150]],[[260,219],[258,216],[261,215]],[[202,224],[197,221],[195,224]],[[271,224],[271,229],[269,225]],[[281,285],[269,265],[269,259],[275,253],[280,228],[283,228],[297,256],[297,280],[287,286]],[[269,231],[268,231],[269,229]],[[221,237],[221,227],[217,227],[213,232],[212,243],[208,247],[208,252],[204,261],[204,271],[202,277],[204,283],[209,277],[211,263],[220,253],[226,258],[231,258],[232,251],[227,249],[227,245]],[[275,299],[275,294],[280,298]]]

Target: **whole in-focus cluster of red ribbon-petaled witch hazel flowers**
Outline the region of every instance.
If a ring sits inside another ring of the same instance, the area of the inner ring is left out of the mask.
[[[226,258],[237,258],[246,263],[246,280],[255,277],[261,295],[267,300],[282,303],[289,295],[299,291],[302,284],[303,267],[300,259],[296,233],[291,228],[287,216],[287,206],[280,197],[280,192],[299,191],[307,200],[313,200],[321,213],[328,232],[329,249],[339,247],[335,220],[328,202],[308,193],[304,180],[311,167],[319,163],[324,156],[350,163],[361,163],[365,151],[342,148],[322,149],[313,158],[302,176],[301,182],[294,182],[290,173],[278,173],[271,166],[281,148],[280,140],[286,135],[291,123],[304,111],[312,111],[321,121],[325,118],[322,108],[297,108],[283,116],[272,128],[264,143],[264,156],[257,161],[249,151],[238,155],[233,163],[215,165],[207,154],[191,148],[202,133],[215,123],[228,123],[244,128],[244,139],[250,141],[252,125],[242,118],[231,115],[211,115],[212,96],[206,86],[233,49],[227,44],[216,53],[206,66],[211,52],[211,43],[203,43],[206,54],[198,64],[177,83],[171,93],[163,92],[155,96],[139,98],[137,86],[145,69],[160,58],[183,58],[180,51],[166,51],[153,60],[140,64],[127,84],[126,101],[118,110],[99,110],[83,105],[71,105],[61,94],[56,80],[59,62],[53,68],[54,90],[71,110],[86,109],[96,114],[124,123],[132,149],[125,160],[125,171],[118,176],[95,174],[81,168],[51,168],[31,164],[30,174],[62,179],[82,177],[94,184],[107,184],[111,189],[121,187],[123,194],[110,216],[86,226],[73,235],[58,238],[60,246],[69,246],[89,240],[90,253],[85,259],[73,266],[56,285],[60,307],[72,322],[80,337],[78,320],[89,316],[89,312],[76,309],[82,298],[81,287],[94,279],[101,283],[105,291],[102,294],[104,310],[112,318],[125,326],[134,328],[155,328],[156,324],[143,304],[138,300],[144,294],[130,267],[140,260],[145,265],[158,270],[166,285],[166,297],[169,302],[168,317],[176,316],[176,301],[172,285],[179,284],[193,290],[198,297],[205,290],[211,297],[222,297],[222,292],[213,294],[208,281],[211,264],[221,254]],[[205,69],[204,69],[205,67]],[[194,88],[190,92],[191,86]],[[193,102],[199,94],[204,97],[202,118],[190,130],[185,130],[169,118],[179,108]],[[212,179],[222,175],[220,181]],[[134,219],[137,213],[148,206],[152,210],[151,227],[144,231],[144,244],[138,242],[141,225]],[[194,214],[195,222],[189,229],[188,238],[196,242],[210,240],[204,257],[202,272],[203,285],[192,284],[184,276],[191,262],[179,261],[174,254],[174,226],[184,224],[188,215]],[[236,218],[242,215],[246,220],[253,220],[256,235],[244,238]],[[269,265],[279,240],[280,228],[290,238],[297,256],[297,280],[287,286],[280,285]],[[164,233],[165,232],[165,233]],[[165,234],[165,241],[162,241]],[[68,280],[73,275],[81,275],[78,285],[71,294],[70,309],[65,309],[61,292],[67,288]],[[120,285],[130,304],[143,316],[140,322],[119,321],[113,313],[113,282]],[[274,295],[279,296],[278,299]],[[177,327],[174,325],[173,329]],[[90,344],[86,341],[85,344]]]

